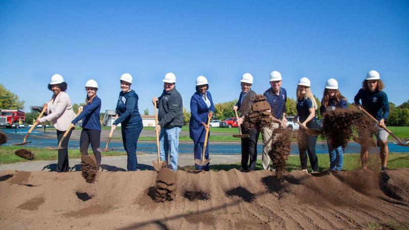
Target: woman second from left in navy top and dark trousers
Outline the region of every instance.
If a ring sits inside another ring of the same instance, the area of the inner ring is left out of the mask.
[[[82,120],[82,131],[80,136],[80,152],[88,155],[88,146],[91,143],[97,169],[101,165],[101,153],[97,150],[100,147],[101,123],[99,122],[99,112],[101,110],[101,99],[97,96],[98,83],[95,80],[88,80],[85,83],[86,99],[82,112],[71,123],[77,124]]]

